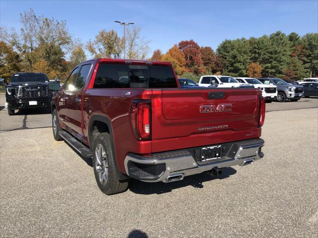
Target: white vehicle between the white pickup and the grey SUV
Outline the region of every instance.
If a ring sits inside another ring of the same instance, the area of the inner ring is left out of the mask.
[[[239,77],[236,78],[241,83],[250,83],[253,84],[255,88],[260,88],[262,90],[262,96],[266,101],[276,101],[277,99],[277,86],[270,84],[263,84],[256,78],[246,78]]]

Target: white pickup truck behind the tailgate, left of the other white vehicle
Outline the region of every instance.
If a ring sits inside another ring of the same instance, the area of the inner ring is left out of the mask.
[[[222,88],[238,88],[252,86],[248,83],[240,83],[234,77],[222,76],[222,75],[204,75],[199,80],[199,86],[201,87],[222,87]]]

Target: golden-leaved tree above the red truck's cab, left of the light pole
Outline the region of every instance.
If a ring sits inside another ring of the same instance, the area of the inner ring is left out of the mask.
[[[86,49],[95,58],[119,58],[123,42],[114,30],[101,30],[93,41],[89,40]]]

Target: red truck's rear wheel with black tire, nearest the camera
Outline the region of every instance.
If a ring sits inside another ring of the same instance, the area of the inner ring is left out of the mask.
[[[93,142],[93,168],[99,189],[106,195],[126,191],[128,180],[119,180],[114,163],[110,135],[100,133]]]

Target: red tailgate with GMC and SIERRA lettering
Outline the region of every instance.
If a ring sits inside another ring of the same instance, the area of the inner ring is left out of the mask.
[[[152,96],[152,151],[260,136],[259,89],[162,89]]]

